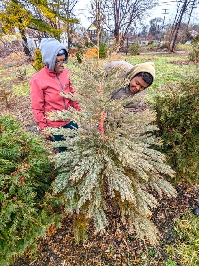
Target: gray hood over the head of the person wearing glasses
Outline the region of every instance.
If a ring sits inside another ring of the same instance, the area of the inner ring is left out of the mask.
[[[41,40],[40,49],[43,63],[52,71],[55,71],[55,60],[60,50],[64,49],[66,51],[66,60],[68,60],[69,53],[65,46],[54,38],[43,38]]]

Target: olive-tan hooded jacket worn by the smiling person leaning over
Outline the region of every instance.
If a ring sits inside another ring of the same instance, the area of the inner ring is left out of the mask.
[[[113,62],[109,63],[105,67],[105,70],[108,70],[109,67],[113,67],[113,66],[114,67],[118,67],[120,65],[124,66],[127,69],[126,75],[123,76],[122,78],[132,80],[132,78],[134,76],[136,76],[136,74],[138,74],[140,72],[148,72],[153,77],[152,83],[154,82],[154,79],[155,79],[155,64],[153,62],[146,62],[146,63],[141,63],[141,64],[137,64],[137,65],[133,66],[133,65],[131,65],[128,62],[125,62],[125,61],[113,61]],[[129,69],[129,71],[128,71],[128,69]],[[149,86],[151,86],[151,85],[152,84],[150,84]],[[123,88],[119,89],[118,91],[112,93],[111,99],[112,100],[120,99],[124,95],[126,97],[130,96],[130,97],[133,98],[138,93],[140,93],[141,95],[145,95],[146,94],[146,88],[144,90],[142,90],[141,92],[138,91],[138,92],[132,93],[130,91],[129,86],[123,87]],[[121,115],[119,115],[119,116],[120,117],[124,117],[130,112],[137,113],[137,112],[139,112],[139,110],[140,110],[140,108],[142,107],[143,104],[144,104],[144,99],[142,99],[139,102],[129,103],[128,105],[124,106],[124,108],[126,108],[127,110],[124,113],[122,113]],[[116,117],[116,119],[119,118],[119,116]]]

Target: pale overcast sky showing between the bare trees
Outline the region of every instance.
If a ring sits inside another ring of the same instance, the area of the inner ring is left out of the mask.
[[[183,3],[181,3],[182,5]],[[91,24],[90,21],[87,20],[86,16],[89,16],[89,11],[87,9],[87,5],[90,5],[90,0],[79,0],[79,2],[75,5],[75,11],[74,13],[77,14],[77,17],[81,19],[81,25],[88,28]],[[151,16],[143,18],[142,23],[146,23],[149,25],[149,21],[153,19],[154,17],[162,17],[164,18],[165,10],[162,9],[169,9],[166,12],[169,14],[165,15],[165,24],[169,23],[170,20],[174,17],[177,11],[177,2],[175,0],[159,0],[159,3],[154,7],[154,9],[151,10]],[[199,8],[193,9],[192,17],[190,19],[190,23],[199,23]],[[188,21],[188,18],[184,19],[185,21]],[[138,26],[139,27],[139,26]],[[149,27],[148,27],[149,29]]]

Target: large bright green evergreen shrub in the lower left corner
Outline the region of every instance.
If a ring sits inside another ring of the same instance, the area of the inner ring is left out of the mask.
[[[59,226],[51,181],[44,144],[11,116],[0,116],[0,265],[27,249],[34,254],[38,238],[50,225]]]

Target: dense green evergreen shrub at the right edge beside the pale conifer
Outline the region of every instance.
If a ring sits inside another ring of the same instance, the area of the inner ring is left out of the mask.
[[[199,70],[189,74],[182,82],[165,93],[154,96],[153,108],[157,112],[156,132],[163,142],[159,150],[167,155],[176,171],[175,181],[182,178],[198,183],[198,101]]]

